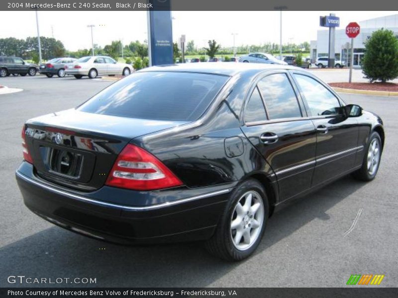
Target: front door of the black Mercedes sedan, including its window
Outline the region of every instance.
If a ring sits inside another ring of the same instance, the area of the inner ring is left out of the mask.
[[[307,73],[293,73],[308,116],[316,129],[316,165],[312,185],[333,179],[354,167],[358,121],[347,117],[344,104],[328,86]]]

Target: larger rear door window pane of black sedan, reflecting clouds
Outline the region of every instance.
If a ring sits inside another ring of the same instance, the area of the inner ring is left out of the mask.
[[[286,74],[271,74],[258,82],[270,120],[301,117],[300,107]]]

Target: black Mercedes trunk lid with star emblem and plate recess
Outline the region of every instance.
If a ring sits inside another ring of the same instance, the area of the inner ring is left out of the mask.
[[[131,139],[185,123],[71,109],[29,120],[25,139],[40,177],[93,191],[105,183],[118,154]]]

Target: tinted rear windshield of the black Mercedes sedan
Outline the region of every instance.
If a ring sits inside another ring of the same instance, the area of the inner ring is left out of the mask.
[[[215,74],[138,72],[102,90],[78,109],[129,118],[194,121],[228,78]]]

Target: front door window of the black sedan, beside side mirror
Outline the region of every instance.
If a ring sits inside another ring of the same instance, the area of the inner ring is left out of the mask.
[[[337,115],[340,103],[325,86],[312,77],[294,74],[312,116]]]

